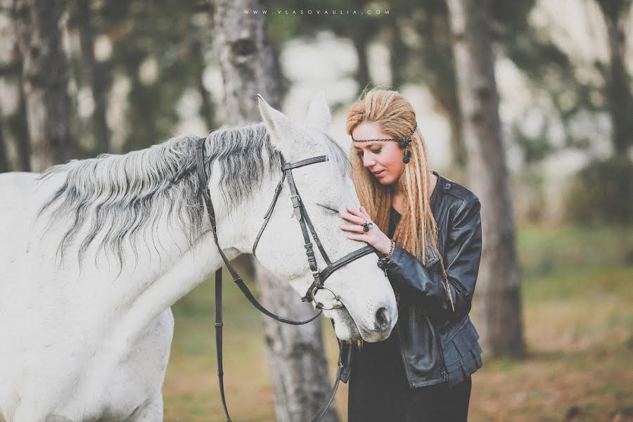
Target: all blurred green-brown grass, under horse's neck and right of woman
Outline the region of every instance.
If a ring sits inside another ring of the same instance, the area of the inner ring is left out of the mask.
[[[518,233],[528,356],[484,357],[470,421],[633,421],[633,227],[523,227]],[[224,421],[212,282],[174,306],[165,421]],[[236,421],[274,421],[262,316],[227,283],[225,386]],[[475,319],[476,321],[476,319]],[[325,321],[333,376],[336,343]],[[346,420],[347,385],[335,403]]]

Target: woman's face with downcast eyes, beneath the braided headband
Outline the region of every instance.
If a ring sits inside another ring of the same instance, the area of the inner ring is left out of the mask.
[[[354,127],[352,137],[360,141],[363,139],[390,139],[393,136],[385,134],[378,123],[362,122]],[[360,159],[363,160],[363,166],[381,184],[394,184],[404,172],[403,152],[398,142],[352,142],[352,146]]]

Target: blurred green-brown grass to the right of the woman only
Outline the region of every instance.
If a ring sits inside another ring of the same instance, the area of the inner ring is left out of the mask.
[[[485,359],[471,421],[633,421],[633,230],[518,236],[528,357]]]

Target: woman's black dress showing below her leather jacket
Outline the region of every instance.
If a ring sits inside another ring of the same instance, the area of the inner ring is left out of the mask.
[[[433,198],[431,198],[433,202]],[[402,216],[389,215],[389,238]],[[452,388],[447,383],[409,388],[397,327],[387,340],[363,342],[352,362],[348,422],[460,422],[468,418],[471,377]]]

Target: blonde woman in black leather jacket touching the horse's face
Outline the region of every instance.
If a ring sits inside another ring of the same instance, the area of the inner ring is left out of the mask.
[[[398,300],[388,340],[354,345],[348,420],[466,421],[482,365],[468,312],[481,256],[478,198],[430,172],[416,114],[373,89],[347,113],[352,178],[364,207],[341,215],[372,245]]]

